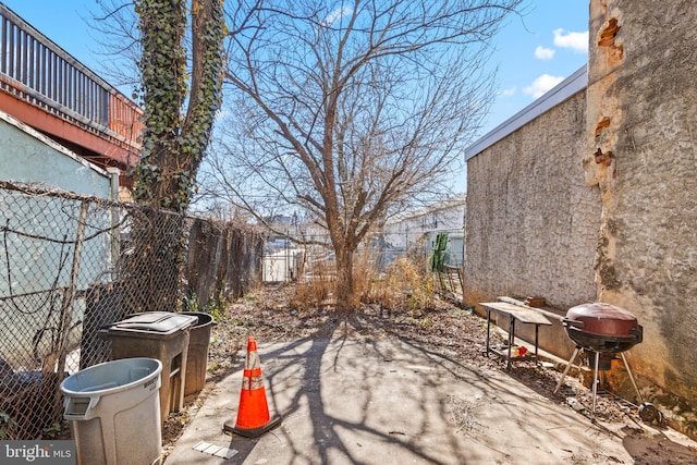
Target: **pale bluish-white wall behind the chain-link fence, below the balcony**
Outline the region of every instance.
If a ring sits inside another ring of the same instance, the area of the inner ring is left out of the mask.
[[[101,198],[109,198],[111,192],[107,172],[2,112],[0,180],[39,184],[44,188]],[[75,249],[72,241],[77,240],[80,217],[78,200],[23,195],[12,191],[0,193],[0,218],[4,228],[0,244],[0,270],[3,277],[0,280],[0,296],[12,296],[3,301],[3,305],[24,311],[21,320],[17,320],[15,311],[4,311],[4,308],[0,311],[0,326],[5,328],[5,333],[21,334],[58,325],[61,290],[71,284],[78,290],[86,290],[102,270],[113,268],[112,235],[98,233],[108,230],[113,219],[110,210],[90,204],[85,221],[86,240],[82,243],[81,260],[76,268],[77,279],[73,281]],[[81,318],[84,299],[75,302],[73,311],[76,318]],[[30,339],[24,342],[21,339],[3,339],[0,340],[0,354],[14,368],[32,368],[30,364],[36,362],[33,351],[42,357],[49,351],[49,340],[44,339],[32,346]]]

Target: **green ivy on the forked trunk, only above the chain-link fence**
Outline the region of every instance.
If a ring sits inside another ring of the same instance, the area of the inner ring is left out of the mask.
[[[134,198],[157,208],[186,210],[198,167],[210,142],[222,96],[222,42],[225,36],[222,0],[194,0],[191,24],[203,58],[194,73],[200,79],[188,94],[185,0],[136,0],[143,54],[138,63],[144,106],[140,161]],[[207,8],[208,7],[208,8]],[[204,16],[205,15],[205,16]],[[197,22],[198,19],[203,21]],[[200,68],[198,68],[200,66]],[[187,96],[196,95],[184,110]]]

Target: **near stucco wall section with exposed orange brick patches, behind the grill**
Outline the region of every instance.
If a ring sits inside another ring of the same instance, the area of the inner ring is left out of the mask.
[[[635,314],[632,368],[697,405],[697,9],[594,0],[584,166],[602,192],[600,297]],[[600,160],[590,154],[603,154]],[[611,155],[610,155],[611,154]],[[609,156],[609,157],[608,157]]]

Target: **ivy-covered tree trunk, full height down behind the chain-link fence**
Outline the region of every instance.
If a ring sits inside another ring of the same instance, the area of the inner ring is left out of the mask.
[[[145,242],[134,244],[129,269],[134,285],[151,293],[147,305],[135,305],[147,310],[176,309],[176,287],[173,292],[169,283],[179,281],[185,252],[184,222],[180,218],[173,232],[169,221],[160,221],[158,210],[180,217],[186,212],[221,100],[222,0],[191,2],[191,56],[184,47],[187,3],[135,1],[143,50],[138,68],[144,131],[133,195],[152,210],[134,224],[134,236]],[[186,81],[188,58],[191,83]]]

